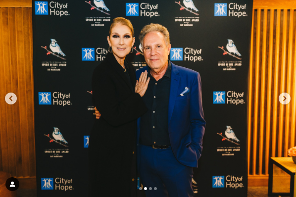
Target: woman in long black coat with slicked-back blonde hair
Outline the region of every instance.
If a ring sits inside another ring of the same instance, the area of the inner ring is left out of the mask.
[[[131,22],[113,19],[109,52],[93,73],[92,89],[96,108],[101,113],[90,136],[89,197],[134,197],[136,177],[137,118],[147,108],[143,102],[149,78],[136,73],[125,56],[135,43]]]

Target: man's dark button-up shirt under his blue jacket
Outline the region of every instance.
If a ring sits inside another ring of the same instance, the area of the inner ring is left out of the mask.
[[[141,117],[140,144],[170,146],[168,110],[171,86],[171,62],[164,76],[156,81],[148,70],[150,81],[143,100],[148,111]]]

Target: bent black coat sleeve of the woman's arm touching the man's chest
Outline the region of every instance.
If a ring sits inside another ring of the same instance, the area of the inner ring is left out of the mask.
[[[116,127],[136,120],[142,116],[147,107],[138,93],[118,102],[114,81],[108,75],[100,75],[93,81],[93,98],[101,117]]]

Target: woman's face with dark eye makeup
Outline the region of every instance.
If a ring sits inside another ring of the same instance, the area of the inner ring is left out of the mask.
[[[131,51],[135,38],[128,26],[116,24],[108,36],[108,43],[116,58],[124,58]]]

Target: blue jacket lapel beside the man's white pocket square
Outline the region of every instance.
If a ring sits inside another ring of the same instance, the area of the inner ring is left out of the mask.
[[[168,124],[170,124],[175,101],[177,98],[177,91],[179,88],[180,83],[180,76],[179,76],[179,70],[175,64],[171,62],[172,65],[172,72],[171,72],[171,87],[170,87],[170,97],[169,97],[169,112],[168,112]]]

